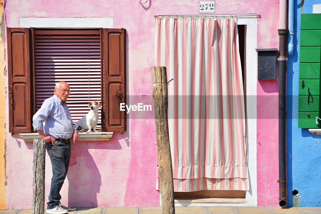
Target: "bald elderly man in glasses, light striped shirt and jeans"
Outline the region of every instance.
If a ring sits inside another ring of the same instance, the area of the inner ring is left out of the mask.
[[[70,94],[69,85],[59,82],[55,94],[46,99],[33,116],[33,128],[46,140],[47,152],[52,165],[52,179],[47,203],[47,213],[64,214],[71,210],[60,203],[59,194],[68,172],[70,143],[78,141],[66,100]],[[45,124],[43,124],[45,122]]]

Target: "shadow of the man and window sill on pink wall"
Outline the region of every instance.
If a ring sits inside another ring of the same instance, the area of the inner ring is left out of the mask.
[[[122,149],[119,140],[126,139],[129,146],[129,133],[115,133],[109,141],[78,142],[71,147],[68,179],[68,206],[98,207],[97,194],[100,192],[101,175],[89,149],[99,151]],[[81,145],[82,144],[82,145]],[[104,152],[104,151],[100,151]]]

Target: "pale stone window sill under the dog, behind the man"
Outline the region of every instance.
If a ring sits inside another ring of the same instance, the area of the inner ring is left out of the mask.
[[[38,133],[20,133],[19,134],[24,141],[33,141],[33,139],[41,139]],[[114,132],[82,132],[78,133],[80,141],[97,141],[97,140],[109,140],[113,137]]]

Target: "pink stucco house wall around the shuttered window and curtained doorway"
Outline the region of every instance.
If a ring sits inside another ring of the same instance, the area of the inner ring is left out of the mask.
[[[258,48],[278,47],[278,1],[216,0],[216,14],[257,13]],[[19,27],[19,17],[112,17],[114,28],[126,28],[128,37],[127,90],[130,95],[150,95],[150,67],[154,66],[154,19],[157,14],[198,14],[198,0],[139,1],[12,0],[6,3],[6,24]],[[250,62],[247,62],[250,63]],[[6,83],[7,84],[7,83]],[[257,94],[277,95],[275,81],[258,81]],[[7,101],[8,102],[8,101]],[[8,103],[7,103],[8,104]],[[277,100],[257,99],[257,117],[277,112]],[[269,110],[269,111],[268,111]],[[137,112],[137,111],[136,111]],[[62,189],[69,206],[157,206],[156,137],[153,112],[150,119],[131,119],[127,131],[110,141],[79,142],[72,146],[72,160]],[[6,117],[8,124],[8,112]],[[257,120],[258,205],[277,205],[277,119]],[[269,132],[267,131],[269,130]],[[261,146],[260,146],[261,145]],[[272,149],[272,151],[271,151]],[[46,201],[51,165],[46,158]],[[6,135],[6,208],[32,205],[32,143],[18,135]],[[256,178],[251,178],[256,179]],[[253,189],[252,191],[256,191]]]

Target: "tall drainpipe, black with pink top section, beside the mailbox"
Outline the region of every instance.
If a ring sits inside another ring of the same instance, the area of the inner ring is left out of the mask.
[[[286,142],[285,142],[285,84],[286,84],[286,45],[287,34],[286,29],[286,9],[287,0],[280,0],[280,16],[279,16],[279,205],[280,207],[286,207],[288,205],[286,197]]]

